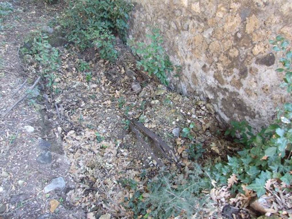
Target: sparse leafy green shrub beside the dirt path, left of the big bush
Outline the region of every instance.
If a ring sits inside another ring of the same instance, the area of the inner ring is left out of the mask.
[[[48,38],[47,34],[37,33],[33,37],[30,48],[23,47],[21,52],[23,55],[31,55],[37,61],[41,76],[47,79],[46,86],[54,90],[55,74],[60,67],[60,55],[58,49],[49,44]]]

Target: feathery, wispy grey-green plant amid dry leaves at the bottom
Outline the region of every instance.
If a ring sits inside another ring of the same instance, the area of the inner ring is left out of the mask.
[[[133,197],[124,200],[124,206],[131,209],[134,218],[171,218],[178,215],[190,218],[197,213],[200,215],[202,208],[209,205],[211,200],[202,194],[202,190],[210,189],[210,180],[204,178],[201,167],[195,164],[194,171],[186,174],[160,173],[155,178],[148,180],[147,196],[137,189],[137,183],[127,181],[123,186],[128,186],[134,191]]]

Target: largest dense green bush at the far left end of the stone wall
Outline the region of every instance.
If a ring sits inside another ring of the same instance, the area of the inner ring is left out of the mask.
[[[95,44],[101,58],[113,61],[115,35],[126,41],[132,7],[124,0],[71,0],[61,23],[69,42],[82,50]]]

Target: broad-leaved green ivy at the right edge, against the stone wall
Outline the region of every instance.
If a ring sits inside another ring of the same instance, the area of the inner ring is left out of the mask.
[[[277,72],[285,72],[283,87],[288,93],[292,91],[291,48],[288,49],[288,41],[282,36],[270,40],[273,50],[281,51],[281,68]],[[232,174],[236,174],[239,183],[232,186],[232,190],[241,191],[241,184],[247,184],[247,188],[257,193],[258,197],[265,194],[267,179],[276,178],[286,185],[292,185],[292,103],[285,103],[279,109],[275,124],[263,128],[254,134],[251,126],[246,121],[232,122],[232,127],[225,135],[235,137],[239,135],[237,142],[245,148],[238,152],[237,156],[228,156],[226,164],[215,165],[213,177],[217,182],[226,183]]]

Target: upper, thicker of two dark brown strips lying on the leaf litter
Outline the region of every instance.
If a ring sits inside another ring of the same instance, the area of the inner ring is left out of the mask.
[[[154,132],[152,132],[149,128],[145,127],[142,123],[135,121],[135,120],[130,120],[130,122],[132,124],[134,124],[135,126],[137,126],[137,128],[139,128],[139,130],[144,133],[145,135],[149,136],[154,142],[156,142],[159,147],[160,150],[162,152],[169,153],[172,155],[173,159],[175,160],[175,162],[178,162],[177,158],[175,157],[175,154],[173,152],[173,150],[158,136],[156,135]]]

